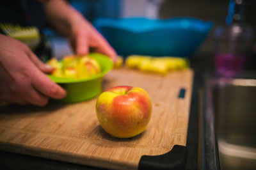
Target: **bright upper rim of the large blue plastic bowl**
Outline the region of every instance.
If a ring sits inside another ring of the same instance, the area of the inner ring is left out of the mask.
[[[133,26],[136,24],[136,26]],[[204,21],[195,17],[173,17],[170,19],[148,19],[146,17],[129,17],[120,19],[98,18],[93,25],[99,29],[112,27],[132,33],[148,31],[183,29],[199,33],[207,33],[213,26],[212,21]]]

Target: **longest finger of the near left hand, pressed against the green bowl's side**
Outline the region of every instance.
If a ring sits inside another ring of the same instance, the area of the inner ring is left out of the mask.
[[[32,86],[46,97],[60,99],[67,95],[65,89],[39,71],[35,72],[32,77]]]

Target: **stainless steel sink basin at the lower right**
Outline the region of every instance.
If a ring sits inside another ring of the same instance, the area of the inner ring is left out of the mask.
[[[208,79],[206,91],[216,169],[256,169],[256,79]]]

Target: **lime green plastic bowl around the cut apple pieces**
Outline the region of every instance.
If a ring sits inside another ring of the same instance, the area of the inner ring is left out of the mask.
[[[58,101],[64,103],[81,102],[96,97],[102,91],[102,79],[106,73],[113,68],[113,62],[107,56],[99,53],[90,53],[89,56],[95,58],[101,68],[101,72],[92,77],[84,79],[71,79],[48,75],[52,81],[60,84],[67,91],[67,96]]]

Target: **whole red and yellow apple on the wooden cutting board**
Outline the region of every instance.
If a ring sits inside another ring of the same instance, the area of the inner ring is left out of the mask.
[[[134,137],[146,129],[152,102],[144,89],[116,86],[100,94],[96,114],[108,134],[119,138]]]

